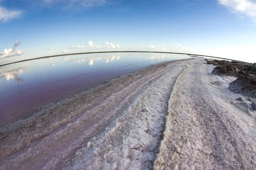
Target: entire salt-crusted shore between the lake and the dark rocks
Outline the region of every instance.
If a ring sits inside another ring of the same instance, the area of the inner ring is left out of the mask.
[[[204,63],[154,65],[7,125],[0,170],[255,168],[254,112]]]

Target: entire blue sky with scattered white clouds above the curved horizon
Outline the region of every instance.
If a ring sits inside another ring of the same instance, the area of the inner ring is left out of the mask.
[[[256,0],[0,0],[0,64],[89,51],[256,62]]]

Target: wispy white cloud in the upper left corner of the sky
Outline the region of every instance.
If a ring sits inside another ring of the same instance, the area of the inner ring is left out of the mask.
[[[8,22],[14,18],[20,17],[23,11],[9,10],[0,6],[0,21]]]

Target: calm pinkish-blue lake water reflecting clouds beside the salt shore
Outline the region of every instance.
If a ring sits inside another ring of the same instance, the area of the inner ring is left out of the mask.
[[[106,80],[186,55],[155,53],[83,54],[0,67],[0,126],[41,105],[88,90]]]

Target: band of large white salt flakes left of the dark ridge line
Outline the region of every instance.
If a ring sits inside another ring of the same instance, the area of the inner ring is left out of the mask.
[[[178,67],[176,72],[183,71]],[[149,170],[158,153],[164,130],[167,101],[175,82],[172,72],[163,74],[133,105],[116,125],[94,137],[66,169]]]

